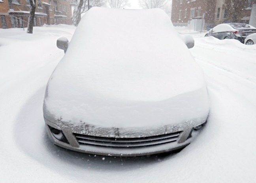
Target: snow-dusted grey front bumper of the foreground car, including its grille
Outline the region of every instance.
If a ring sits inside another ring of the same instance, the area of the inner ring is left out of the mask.
[[[133,130],[134,133],[127,133],[117,128],[104,129],[88,125],[78,127],[63,121],[52,123],[44,119],[47,133],[57,146],[108,156],[142,156],[181,149],[190,144],[199,132],[191,121],[155,130],[143,129],[144,133],[138,129]],[[53,129],[61,133],[56,135]],[[139,134],[143,134],[143,137]]]

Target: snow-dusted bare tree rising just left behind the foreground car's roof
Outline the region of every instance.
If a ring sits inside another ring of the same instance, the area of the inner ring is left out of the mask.
[[[85,13],[88,11],[91,7],[94,6],[104,6],[105,0],[76,0],[75,9],[73,12],[73,24],[77,26],[79,22],[81,21],[81,13]]]

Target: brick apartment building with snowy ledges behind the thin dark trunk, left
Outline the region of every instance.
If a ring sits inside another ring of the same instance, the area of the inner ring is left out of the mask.
[[[0,0],[0,28],[27,27],[29,0]],[[34,26],[72,24],[70,0],[36,0]]]

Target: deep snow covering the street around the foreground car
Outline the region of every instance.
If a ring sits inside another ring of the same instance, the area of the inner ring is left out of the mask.
[[[256,182],[256,45],[192,34],[211,108],[201,134],[175,155],[104,157],[58,148],[45,131],[45,85],[64,55],[56,39],[74,30],[0,29],[0,182]]]

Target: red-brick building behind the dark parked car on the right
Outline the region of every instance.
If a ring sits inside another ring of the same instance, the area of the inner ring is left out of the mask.
[[[249,23],[252,5],[256,0],[244,0],[248,6],[243,9],[241,22]],[[204,17],[205,24],[213,27],[217,24],[226,22],[228,13],[222,9],[225,0],[173,0],[171,21],[175,24],[188,23],[188,20],[195,17]]]

